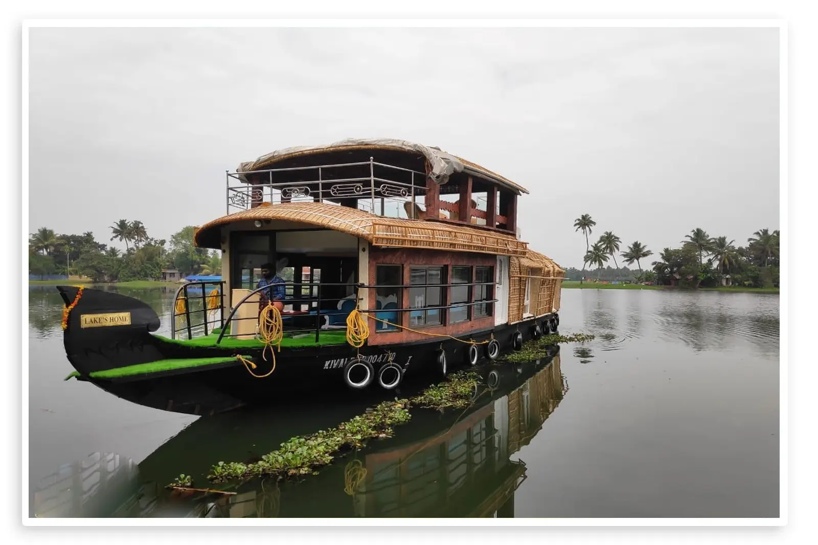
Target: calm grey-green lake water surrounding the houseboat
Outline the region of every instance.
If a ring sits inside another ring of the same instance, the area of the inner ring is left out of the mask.
[[[122,290],[163,317],[173,293]],[[564,290],[562,345],[508,367],[466,412],[413,412],[395,437],[299,483],[179,498],[219,461],[250,461],[366,403],[199,419],[63,381],[61,300],[29,288],[29,511],[38,516],[775,517],[777,295]],[[345,479],[360,465],[360,483]],[[349,470],[349,471],[347,471]]]

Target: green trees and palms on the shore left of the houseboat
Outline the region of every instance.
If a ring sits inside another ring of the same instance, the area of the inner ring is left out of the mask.
[[[188,225],[170,241],[148,236],[141,221],[120,219],[110,227],[110,241],[125,243],[125,251],[98,242],[92,232],[56,234],[40,227],[29,237],[29,274],[82,276],[93,282],[160,280],[162,270],[175,268],[183,276],[221,274],[222,259],[193,245],[196,227]],[[167,247],[169,246],[169,247]]]

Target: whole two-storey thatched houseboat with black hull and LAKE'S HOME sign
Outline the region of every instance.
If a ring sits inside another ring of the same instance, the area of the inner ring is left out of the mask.
[[[222,277],[179,288],[169,336],[138,300],[58,287],[74,376],[134,403],[212,414],[275,390],[391,390],[494,360],[560,323],[564,270],[519,237],[527,193],[402,140],[242,163],[227,172],[226,214],[195,234],[222,251]],[[259,286],[265,267],[272,286]]]

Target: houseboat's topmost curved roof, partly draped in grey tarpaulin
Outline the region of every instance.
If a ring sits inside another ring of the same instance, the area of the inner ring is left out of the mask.
[[[247,161],[239,165],[237,173],[249,173],[258,170],[271,169],[273,165],[290,163],[292,160],[302,159],[299,166],[308,164],[321,164],[320,155],[330,155],[344,151],[402,151],[409,155],[422,155],[429,164],[429,176],[438,183],[446,183],[453,173],[465,172],[485,178],[490,182],[495,182],[501,187],[506,187],[516,193],[528,193],[528,190],[510,179],[492,172],[479,164],[461,159],[457,155],[452,155],[442,151],[437,147],[424,146],[406,140],[395,140],[392,138],[348,138],[340,142],[335,142],[326,146],[298,146],[289,147],[284,150],[273,151],[267,155],[262,155],[254,161]],[[316,162],[317,161],[317,162]],[[304,164],[301,164],[304,163]],[[286,166],[292,166],[287,164]]]

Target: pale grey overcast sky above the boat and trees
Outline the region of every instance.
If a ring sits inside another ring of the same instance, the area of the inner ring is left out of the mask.
[[[694,227],[737,245],[779,228],[778,29],[32,29],[29,44],[29,232],[110,243],[126,218],[169,239],[225,213],[225,170],[346,137],[439,146],[527,187],[523,238],[564,267],[582,265],[580,214],[592,238],[655,253]]]

